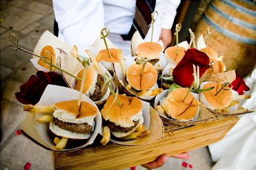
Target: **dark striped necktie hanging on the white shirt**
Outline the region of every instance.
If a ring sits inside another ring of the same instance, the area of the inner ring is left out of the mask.
[[[145,38],[149,25],[151,23],[151,13],[156,6],[156,0],[137,0],[136,10],[133,18],[132,26],[127,35],[121,35],[123,40],[131,40],[133,33],[139,31],[142,38]]]

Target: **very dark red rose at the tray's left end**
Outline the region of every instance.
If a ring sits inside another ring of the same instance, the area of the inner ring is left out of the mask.
[[[38,71],[36,76],[30,76],[29,80],[19,87],[20,92],[15,93],[16,99],[25,105],[35,105],[48,84],[66,86],[63,78],[55,72]]]

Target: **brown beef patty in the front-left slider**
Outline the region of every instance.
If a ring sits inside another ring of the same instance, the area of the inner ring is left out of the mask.
[[[90,133],[92,131],[92,126],[88,125],[87,123],[84,124],[73,124],[73,123],[66,123],[64,121],[58,120],[57,118],[53,119],[53,123],[60,128],[70,131],[70,132],[75,132],[75,133]]]

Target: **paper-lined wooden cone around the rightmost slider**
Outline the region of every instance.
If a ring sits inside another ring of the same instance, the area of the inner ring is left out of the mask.
[[[202,89],[203,86],[205,84],[207,84],[207,83],[210,83],[210,82],[205,81],[204,83],[202,83],[200,85],[200,89]],[[234,90],[231,89],[231,92],[232,92],[232,96],[238,96],[238,92],[237,91],[234,91]],[[199,92],[199,100],[202,103],[202,105],[204,105],[208,110],[210,110],[213,113],[234,114],[235,115],[235,114],[245,114],[245,113],[253,112],[253,111],[248,110],[247,108],[242,107],[240,104],[237,104],[237,105],[234,105],[234,106],[228,108],[229,112],[219,112],[217,110],[213,110],[211,108],[210,104],[206,104],[206,103],[208,103],[208,101],[205,99],[203,92]]]

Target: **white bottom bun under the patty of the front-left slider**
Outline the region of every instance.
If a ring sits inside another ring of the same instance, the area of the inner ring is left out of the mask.
[[[75,133],[63,130],[58,125],[55,125],[52,121],[50,122],[50,130],[52,133],[56,134],[59,137],[69,138],[69,139],[88,139],[91,136],[91,133]]]

